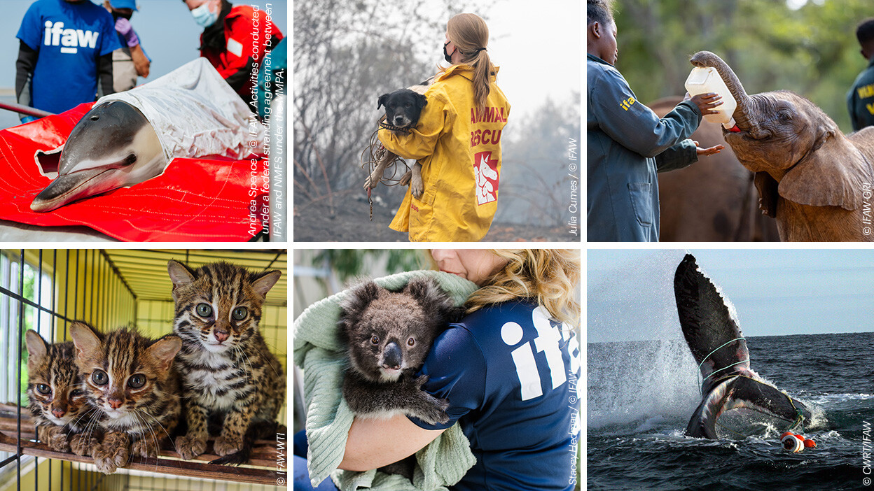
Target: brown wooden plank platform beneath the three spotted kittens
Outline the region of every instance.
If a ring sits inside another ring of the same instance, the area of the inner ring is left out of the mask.
[[[22,408],[21,411],[21,453],[23,455],[83,464],[94,463],[94,459],[91,457],[56,452],[45,444],[38,443],[36,441],[36,427],[31,421],[30,411],[27,408]],[[0,404],[0,451],[17,453],[17,425],[17,407]],[[277,480],[280,478],[281,483],[288,481],[286,475],[288,469],[285,467],[288,465],[286,450],[288,446],[284,440],[281,444],[282,446],[279,448],[275,441],[257,440],[250,464],[237,467],[209,463],[211,460],[218,459],[218,455],[212,453],[212,439],[207,442],[206,453],[198,456],[195,460],[181,460],[172,444],[166,442],[157,459],[131,457],[131,462],[124,468],[158,474],[276,486]]]

